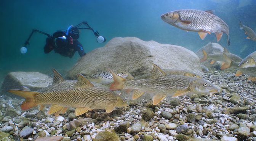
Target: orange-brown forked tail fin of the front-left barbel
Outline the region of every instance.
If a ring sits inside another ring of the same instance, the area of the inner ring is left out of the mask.
[[[37,106],[37,103],[35,103],[35,94],[37,92],[24,91],[24,90],[18,90],[18,89],[10,89],[7,92],[16,94],[16,95],[24,97],[26,99],[21,104],[21,110],[27,110],[27,109]]]

